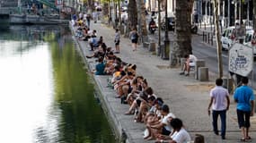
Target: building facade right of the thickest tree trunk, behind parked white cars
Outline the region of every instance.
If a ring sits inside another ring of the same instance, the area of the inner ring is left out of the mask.
[[[233,26],[240,19],[246,25],[252,25],[252,0],[219,0],[218,13],[223,27]],[[199,22],[214,23],[214,0],[196,0],[194,14],[198,15]]]

